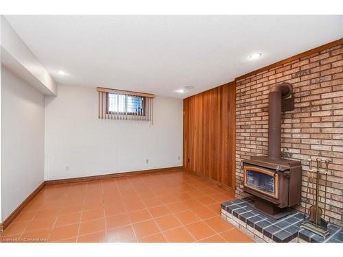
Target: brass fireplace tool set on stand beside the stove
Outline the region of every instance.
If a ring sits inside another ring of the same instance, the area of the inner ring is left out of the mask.
[[[316,159],[317,166],[316,169],[312,168],[311,158],[307,159],[309,162],[309,171],[307,172],[307,191],[306,191],[306,204],[305,204],[305,215],[303,225],[301,228],[305,228],[311,232],[319,234],[320,236],[326,238],[329,235],[329,230],[327,229],[328,221],[325,220],[325,209],[327,207],[327,173],[329,171],[330,160],[325,160],[325,176],[324,176],[324,210],[319,207],[319,186],[320,186],[320,171],[322,160]],[[312,205],[309,207],[309,217],[306,220],[307,213],[307,201],[309,195],[309,184],[311,181],[311,191],[312,191]],[[316,181],[314,181],[316,180]],[[316,188],[314,188],[314,183],[316,183]],[[315,192],[316,190],[316,192]],[[324,212],[324,213],[323,213]]]

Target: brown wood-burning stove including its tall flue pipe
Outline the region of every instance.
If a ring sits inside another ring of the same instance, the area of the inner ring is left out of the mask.
[[[300,204],[301,162],[281,158],[281,111],[294,110],[292,85],[276,84],[269,93],[268,156],[243,160],[244,191],[255,195],[255,208],[274,219]]]

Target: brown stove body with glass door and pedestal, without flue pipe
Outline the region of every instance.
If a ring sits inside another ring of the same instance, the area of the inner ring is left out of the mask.
[[[255,208],[274,219],[287,215],[285,208],[300,203],[301,163],[255,156],[243,161],[244,191],[255,195]]]

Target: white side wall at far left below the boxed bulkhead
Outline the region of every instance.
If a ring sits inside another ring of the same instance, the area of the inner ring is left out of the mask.
[[[44,95],[2,66],[2,220],[44,180]]]

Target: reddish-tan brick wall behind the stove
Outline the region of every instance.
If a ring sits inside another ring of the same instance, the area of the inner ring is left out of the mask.
[[[303,164],[303,197],[296,209],[304,211],[308,201],[304,159],[329,159],[326,212],[332,223],[342,225],[343,45],[237,80],[236,195],[245,195],[241,160],[268,154],[268,93],[280,82],[294,87],[295,110],[283,113],[281,153]],[[320,186],[321,196],[323,190]],[[323,202],[321,197],[322,207]]]

